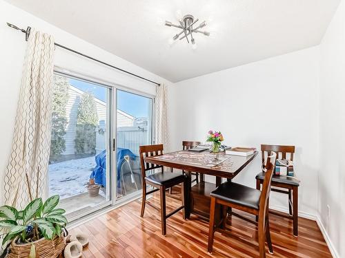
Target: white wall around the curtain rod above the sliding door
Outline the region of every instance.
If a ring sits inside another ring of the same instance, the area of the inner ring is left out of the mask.
[[[32,16],[32,14],[0,0],[0,124],[3,125],[0,127],[0,178],[3,178],[6,162],[10,155],[23,58],[26,50],[24,34],[9,28],[6,22],[13,23],[21,28],[26,28],[26,26],[30,25],[32,28],[37,28],[37,30],[52,34],[55,36],[57,43],[66,45],[74,50],[121,67],[132,73],[150,78],[158,83],[171,84],[167,80],[164,80],[164,78],[160,78],[105,50],[101,50],[101,48],[95,45],[78,39],[76,36],[64,32]],[[84,29],[87,30],[87,26]],[[155,94],[155,86],[152,83],[146,83],[138,78],[117,72],[114,69],[99,65],[94,61],[77,56],[66,50],[61,50],[59,47],[55,50],[55,65],[64,69],[70,69],[78,74],[92,76],[109,85],[119,84],[139,90],[140,92],[145,92],[146,94]],[[0,182],[2,184],[3,180]],[[2,189],[3,187],[0,186],[0,191]],[[2,196],[3,194],[0,192],[0,198]]]

